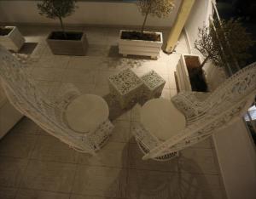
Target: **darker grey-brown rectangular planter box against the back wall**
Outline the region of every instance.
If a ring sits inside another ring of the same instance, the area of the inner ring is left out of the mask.
[[[68,32],[67,32],[68,33]],[[81,33],[81,32],[77,32]],[[86,54],[88,42],[84,32],[80,40],[59,40],[59,39],[50,39],[53,32],[49,34],[46,42],[49,45],[49,48],[53,54],[62,54],[62,55],[79,55],[83,56]]]

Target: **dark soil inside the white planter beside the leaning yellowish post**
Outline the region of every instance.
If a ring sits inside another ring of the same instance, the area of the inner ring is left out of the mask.
[[[160,42],[160,35],[154,32],[144,32],[142,34],[142,32],[140,31],[123,31],[121,38],[130,40]]]

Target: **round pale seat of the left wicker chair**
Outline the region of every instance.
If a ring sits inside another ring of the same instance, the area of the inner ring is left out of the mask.
[[[80,133],[90,133],[108,119],[108,104],[95,94],[83,94],[74,99],[66,110],[70,128]]]

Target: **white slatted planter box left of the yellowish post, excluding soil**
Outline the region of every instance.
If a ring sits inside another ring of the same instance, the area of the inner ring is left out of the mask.
[[[154,32],[160,35],[160,42],[143,41],[143,40],[129,40],[122,39],[122,32],[119,32],[119,54],[127,56],[128,54],[150,56],[152,59],[157,60],[163,45],[163,36],[161,32]],[[147,32],[147,31],[145,31]]]

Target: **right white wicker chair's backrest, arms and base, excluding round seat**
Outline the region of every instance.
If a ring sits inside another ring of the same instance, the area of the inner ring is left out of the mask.
[[[183,130],[170,139],[161,141],[142,124],[132,129],[137,144],[145,154],[143,160],[170,160],[178,151],[207,139],[220,128],[241,117],[252,105],[255,94],[256,62],[236,72],[204,101],[197,99],[195,92],[177,94],[170,103],[186,118],[186,127]]]

